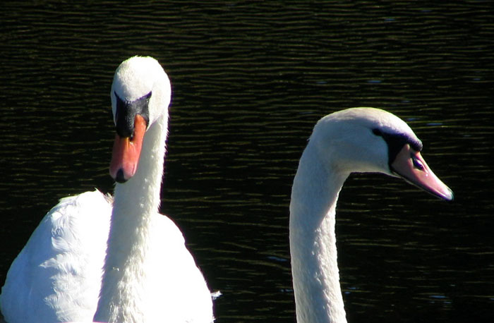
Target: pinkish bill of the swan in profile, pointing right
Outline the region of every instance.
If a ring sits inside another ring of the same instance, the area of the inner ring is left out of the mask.
[[[391,164],[392,171],[406,181],[444,200],[453,200],[453,192],[430,170],[420,152],[404,145]]]

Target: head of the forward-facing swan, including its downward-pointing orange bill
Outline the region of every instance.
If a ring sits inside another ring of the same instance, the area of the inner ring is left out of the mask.
[[[110,175],[124,183],[137,170],[146,130],[168,120],[169,78],[157,60],[133,56],[116,68],[110,96],[116,128]]]

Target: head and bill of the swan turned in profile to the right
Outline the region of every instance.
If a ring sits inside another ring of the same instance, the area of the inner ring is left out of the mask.
[[[404,178],[444,200],[453,193],[421,156],[422,142],[402,119],[374,108],[352,108],[320,119],[310,138],[330,171],[379,172]]]

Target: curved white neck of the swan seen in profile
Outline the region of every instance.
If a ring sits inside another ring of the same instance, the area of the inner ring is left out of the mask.
[[[291,273],[299,323],[347,322],[339,286],[335,209],[349,174],[327,165],[309,143],[291,191]]]

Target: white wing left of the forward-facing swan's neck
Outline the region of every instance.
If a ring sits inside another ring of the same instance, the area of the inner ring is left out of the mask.
[[[92,320],[112,202],[98,190],[65,197],[13,261],[0,295],[7,322]]]

